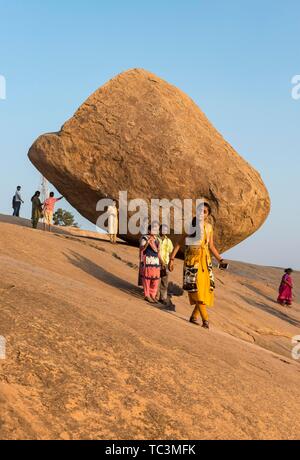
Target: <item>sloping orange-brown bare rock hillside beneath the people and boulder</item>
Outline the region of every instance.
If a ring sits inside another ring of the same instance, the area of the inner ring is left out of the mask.
[[[143,301],[137,249],[15,223],[0,218],[2,439],[299,438],[300,305],[274,302],[280,269],[216,271],[206,331],[186,294],[176,313]]]

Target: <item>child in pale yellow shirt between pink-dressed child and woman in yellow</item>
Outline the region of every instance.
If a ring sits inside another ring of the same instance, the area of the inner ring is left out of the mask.
[[[174,246],[170,238],[167,236],[168,226],[161,225],[159,228],[159,251],[162,260],[160,270],[160,285],[159,285],[159,302],[161,302],[168,310],[175,311],[175,305],[171,302],[168,296],[169,285],[169,262],[170,255],[173,252]]]

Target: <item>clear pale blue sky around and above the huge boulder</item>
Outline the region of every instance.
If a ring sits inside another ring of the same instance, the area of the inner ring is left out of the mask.
[[[300,268],[299,0],[0,0],[0,15],[0,212],[21,184],[30,216],[34,139],[143,67],[188,93],[269,189],[268,221],[228,257]]]

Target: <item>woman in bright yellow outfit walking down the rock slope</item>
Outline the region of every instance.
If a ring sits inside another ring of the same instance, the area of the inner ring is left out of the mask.
[[[209,329],[206,307],[213,306],[215,289],[211,253],[219,263],[223,262],[223,259],[214,245],[213,227],[208,222],[208,217],[211,214],[211,207],[208,203],[204,203],[202,212],[203,234],[198,241],[193,241],[191,245],[185,246],[183,289],[188,291],[190,304],[195,305],[190,322],[199,325],[197,320],[201,316],[202,326]],[[195,227],[196,222],[197,220],[194,218],[193,227]],[[194,235],[191,235],[191,237],[193,238]],[[174,269],[174,259],[177,252],[185,243],[186,235],[182,237],[171,254],[169,263],[170,271]]]

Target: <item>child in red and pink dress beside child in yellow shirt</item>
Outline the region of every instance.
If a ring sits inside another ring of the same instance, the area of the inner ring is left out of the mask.
[[[149,225],[148,235],[140,241],[141,277],[144,297],[147,302],[156,303],[160,281],[161,257],[159,251],[159,223]]]

